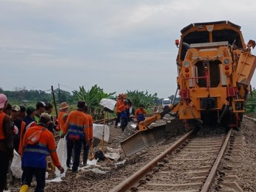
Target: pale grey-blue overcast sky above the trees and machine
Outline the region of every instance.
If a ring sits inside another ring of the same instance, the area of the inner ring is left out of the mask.
[[[0,0],[0,88],[97,84],[171,96],[180,29],[228,20],[247,43],[256,40],[255,10],[255,0]]]

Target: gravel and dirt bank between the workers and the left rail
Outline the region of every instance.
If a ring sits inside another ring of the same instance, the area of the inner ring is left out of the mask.
[[[162,124],[163,120],[157,121],[157,123]],[[105,152],[114,149],[121,157],[116,161],[105,160],[104,162],[98,162],[97,165],[100,167],[97,168],[102,173],[104,172],[103,174],[96,174],[91,171],[91,168],[80,170],[78,174],[67,171],[63,182],[51,182],[47,184],[46,191],[110,191],[115,185],[118,185],[118,183],[135,173],[135,171],[138,171],[145,163],[156,157],[157,154],[167,149],[171,143],[177,141],[184,134],[185,130],[180,131],[180,129],[177,129],[174,135],[167,140],[150,146],[137,154],[125,157],[120,142],[129,137],[129,135],[132,135],[132,132],[134,132],[134,129],[130,126],[124,132],[120,128],[114,128],[113,125],[110,126],[110,141],[105,144]],[[100,143],[98,146],[100,146]],[[96,148],[95,150],[98,149]],[[116,165],[115,163],[118,162],[121,164]]]

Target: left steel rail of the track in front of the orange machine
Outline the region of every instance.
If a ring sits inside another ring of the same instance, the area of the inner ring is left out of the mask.
[[[163,160],[167,154],[170,154],[171,152],[174,152],[175,149],[177,149],[179,146],[182,145],[188,138],[191,137],[193,133],[193,130],[188,132],[187,134],[183,135],[182,138],[180,138],[178,141],[176,141],[172,146],[170,146],[168,149],[166,149],[165,152],[162,154],[159,154],[157,157],[155,157],[152,161],[146,164],[146,166],[143,166],[140,170],[135,172],[135,174],[132,174],[130,177],[125,179],[123,182],[121,182],[119,185],[115,186],[110,192],[124,192],[128,190],[132,185],[135,184],[135,182],[138,181],[138,179],[141,179],[148,171],[150,171],[154,166],[157,165],[158,162]]]

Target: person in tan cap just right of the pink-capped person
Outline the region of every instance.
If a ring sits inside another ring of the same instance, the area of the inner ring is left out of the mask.
[[[15,128],[18,129],[17,134],[13,135],[13,146],[15,151],[18,152],[19,154],[21,154],[20,144],[22,145],[22,143],[20,141],[23,136],[22,131],[24,131],[26,126],[26,123],[22,121],[21,118],[19,118],[20,113],[21,107],[19,107],[18,105],[13,105],[11,118]]]

